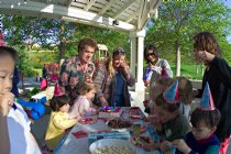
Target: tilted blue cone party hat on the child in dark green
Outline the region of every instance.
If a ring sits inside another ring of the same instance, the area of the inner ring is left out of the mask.
[[[167,103],[174,105],[178,102],[178,79],[174,81],[174,84],[164,91],[163,97]]]

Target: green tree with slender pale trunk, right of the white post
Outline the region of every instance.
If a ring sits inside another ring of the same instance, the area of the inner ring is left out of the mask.
[[[163,55],[176,63],[176,76],[180,75],[182,55],[187,62],[194,59],[193,36],[196,33],[211,32],[219,42],[229,45],[226,37],[231,28],[230,9],[219,0],[163,2],[158,14],[147,30],[146,42],[156,44]],[[173,54],[176,59],[173,59]]]

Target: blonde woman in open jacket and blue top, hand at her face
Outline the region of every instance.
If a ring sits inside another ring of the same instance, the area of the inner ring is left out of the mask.
[[[100,87],[96,92],[97,106],[131,106],[128,86],[133,86],[135,79],[125,63],[123,48],[116,48],[106,64],[99,66],[94,82]]]

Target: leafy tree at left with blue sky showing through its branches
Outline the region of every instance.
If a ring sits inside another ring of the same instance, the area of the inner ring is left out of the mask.
[[[10,46],[22,43],[31,45],[30,40],[46,48],[51,44],[56,44],[59,47],[59,58],[65,55],[65,43],[75,30],[73,23],[56,19],[21,15],[3,15],[2,19]]]

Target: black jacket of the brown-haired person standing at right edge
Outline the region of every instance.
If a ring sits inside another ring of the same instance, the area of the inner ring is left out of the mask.
[[[216,134],[223,142],[231,133],[231,67],[220,57],[215,57],[207,68],[202,79],[202,95],[206,82],[209,82],[216,108],[221,112],[221,120]]]

